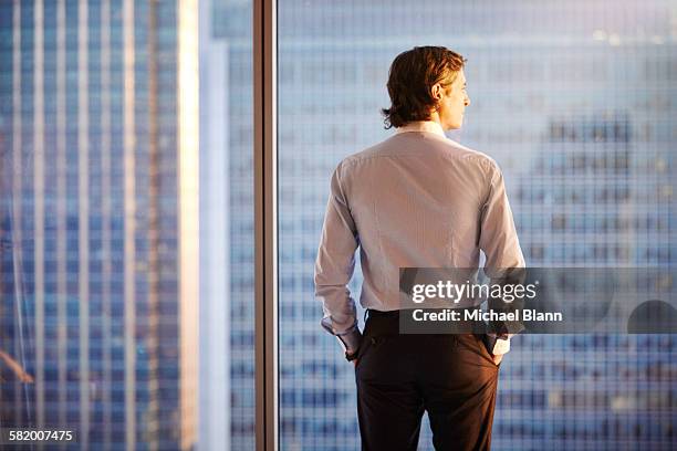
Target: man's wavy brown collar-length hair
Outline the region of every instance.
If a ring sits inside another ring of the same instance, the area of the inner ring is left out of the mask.
[[[450,85],[466,59],[444,46],[417,46],[398,54],[388,72],[389,108],[383,108],[385,128],[402,127],[430,118],[437,102],[430,93],[436,83]]]

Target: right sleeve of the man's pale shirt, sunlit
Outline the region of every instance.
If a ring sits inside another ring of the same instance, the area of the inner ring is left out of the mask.
[[[518,284],[525,277],[524,256],[520,248],[512,210],[506,192],[503,175],[496,162],[490,164],[489,192],[481,209],[479,247],[487,256],[485,273],[491,284]],[[518,301],[511,303],[500,298],[489,298],[489,307],[494,311],[511,312],[519,308]],[[512,336],[524,326],[515,322],[493,322],[489,331]]]

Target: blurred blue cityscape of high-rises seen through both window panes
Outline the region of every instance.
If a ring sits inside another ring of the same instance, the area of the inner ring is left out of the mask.
[[[179,3],[0,2],[0,427],[254,449],[252,4],[199,3],[191,430]],[[671,269],[676,39],[667,0],[278,1],[282,450],[360,448],[354,369],[320,327],[312,273],[333,168],[393,133],[378,114],[392,60],[414,45],[468,59],[472,105],[448,136],[501,166],[528,266]],[[677,448],[676,356],[675,335],[515,337],[493,449]]]

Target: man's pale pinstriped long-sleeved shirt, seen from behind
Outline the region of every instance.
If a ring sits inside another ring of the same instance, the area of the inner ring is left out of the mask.
[[[397,310],[399,268],[524,268],[503,176],[489,156],[448,139],[431,120],[343,159],[331,179],[315,261],[322,326],[348,353],[361,339],[347,289],[355,250],[365,308]],[[459,304],[458,307],[467,305]]]

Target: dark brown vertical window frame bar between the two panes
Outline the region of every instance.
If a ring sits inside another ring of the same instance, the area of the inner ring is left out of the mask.
[[[279,449],[277,2],[253,0],[257,450]]]

